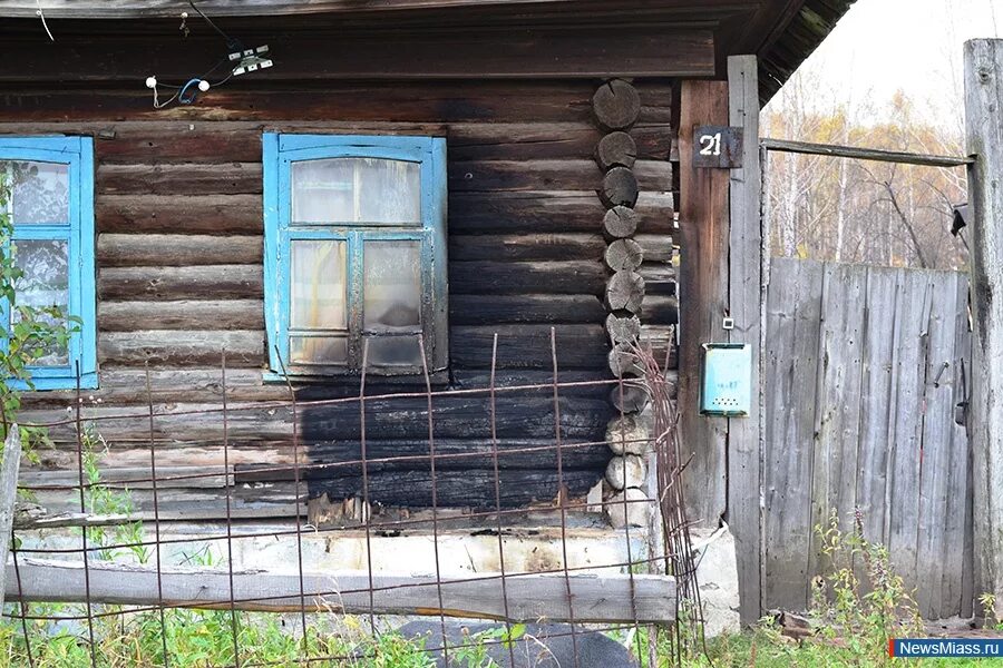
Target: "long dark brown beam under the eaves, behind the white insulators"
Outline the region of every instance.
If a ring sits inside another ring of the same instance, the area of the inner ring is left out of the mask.
[[[176,31],[175,31],[176,32]],[[251,39],[251,38],[246,38]],[[374,79],[509,79],[707,77],[714,73],[713,33],[705,28],[652,27],[605,29],[518,29],[504,35],[471,29],[460,33],[342,30],[329,35],[279,32],[260,38],[274,55],[274,67],[238,77],[225,89],[261,90],[266,81],[303,82]],[[191,38],[178,47],[172,35],[145,37],[62,36],[38,48],[37,40],[4,39],[9,49],[30,50],[31,71],[0,67],[0,81],[129,82],[137,97],[152,101],[143,86],[152,72],[179,85],[225,57],[220,39]],[[256,46],[256,41],[251,46]],[[600,45],[601,48],[585,48]],[[226,76],[221,68],[207,79]],[[250,87],[250,88],[249,88]],[[162,89],[164,96],[166,89]],[[169,95],[168,95],[169,97]],[[201,98],[215,97],[206,92]],[[295,105],[296,96],[288,96]]]

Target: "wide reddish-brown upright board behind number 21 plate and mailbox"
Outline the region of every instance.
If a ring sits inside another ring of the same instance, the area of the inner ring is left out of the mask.
[[[728,421],[699,413],[700,345],[727,338],[729,174],[693,165],[693,130],[728,125],[728,84],[683,81],[681,104],[679,409],[682,459],[692,455],[683,482],[690,520],[717,528],[726,510]]]

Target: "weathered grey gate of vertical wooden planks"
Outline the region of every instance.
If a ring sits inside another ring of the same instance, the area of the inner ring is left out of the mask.
[[[806,608],[835,511],[888,547],[924,617],[972,613],[967,291],[955,272],[771,261],[765,610]]]

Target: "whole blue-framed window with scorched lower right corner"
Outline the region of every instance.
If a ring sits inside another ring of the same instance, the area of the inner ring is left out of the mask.
[[[272,371],[446,369],[445,139],[269,132],[262,140]]]

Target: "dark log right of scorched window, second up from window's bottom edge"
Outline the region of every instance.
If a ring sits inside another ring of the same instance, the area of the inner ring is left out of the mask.
[[[595,295],[449,296],[451,325],[595,324],[606,310]]]

